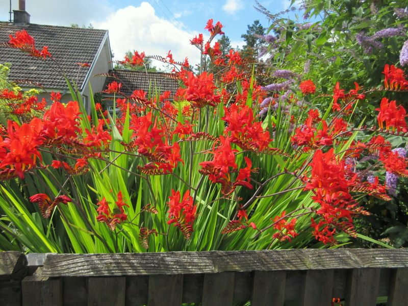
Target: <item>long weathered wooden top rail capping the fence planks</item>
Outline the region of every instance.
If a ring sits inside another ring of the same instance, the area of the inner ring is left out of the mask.
[[[408,267],[408,249],[49,254],[43,276],[195,274]]]

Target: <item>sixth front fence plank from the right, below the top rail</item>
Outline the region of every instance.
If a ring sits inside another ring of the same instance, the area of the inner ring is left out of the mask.
[[[148,306],[180,306],[183,297],[183,274],[150,275]]]

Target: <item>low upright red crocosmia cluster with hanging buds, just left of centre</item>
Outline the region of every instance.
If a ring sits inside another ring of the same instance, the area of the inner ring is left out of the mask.
[[[174,223],[174,226],[179,227],[186,239],[190,239],[193,233],[193,223],[195,220],[195,212],[197,207],[193,205],[193,197],[190,196],[190,190],[184,193],[183,199],[180,201],[180,191],[171,190],[167,205],[169,206],[168,214],[170,220],[168,224]]]

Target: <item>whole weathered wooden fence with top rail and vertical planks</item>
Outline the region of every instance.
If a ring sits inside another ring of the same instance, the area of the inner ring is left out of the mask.
[[[378,297],[408,305],[408,249],[0,252],[1,306],[330,306],[333,298],[370,306]]]

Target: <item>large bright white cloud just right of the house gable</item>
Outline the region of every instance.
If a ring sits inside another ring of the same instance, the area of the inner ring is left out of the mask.
[[[147,2],[142,2],[139,7],[119,9],[94,25],[109,30],[115,60],[122,60],[128,50],[135,49],[139,53],[163,57],[171,50],[175,61],[183,62],[187,56],[190,64],[199,62],[199,50],[190,45],[190,39],[197,33],[183,31],[180,23],[159,18]],[[154,61],[154,64],[162,67],[160,62]]]

